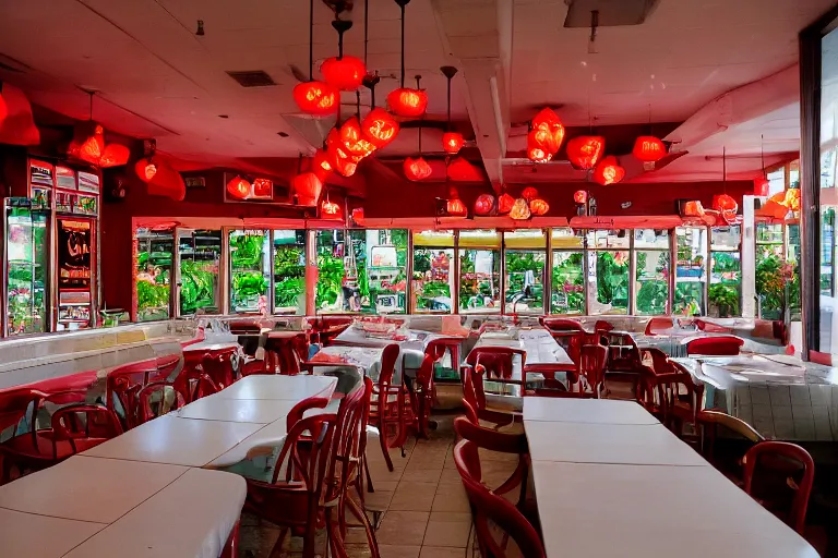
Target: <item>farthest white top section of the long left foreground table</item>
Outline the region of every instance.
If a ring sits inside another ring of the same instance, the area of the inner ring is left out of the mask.
[[[314,396],[332,397],[336,378],[327,376],[248,376],[218,392],[224,399],[285,399],[302,401]]]

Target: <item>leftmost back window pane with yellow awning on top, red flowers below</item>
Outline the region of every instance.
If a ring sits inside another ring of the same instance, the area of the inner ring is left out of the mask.
[[[454,231],[414,234],[414,312],[451,314],[454,308]]]

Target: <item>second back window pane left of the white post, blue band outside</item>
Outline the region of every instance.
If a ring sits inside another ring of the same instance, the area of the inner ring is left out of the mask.
[[[675,292],[672,314],[702,316],[707,305],[707,228],[675,229]]]

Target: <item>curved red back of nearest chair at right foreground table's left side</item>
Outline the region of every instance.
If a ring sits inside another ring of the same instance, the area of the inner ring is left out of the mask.
[[[527,558],[546,557],[538,533],[517,508],[503,497],[493,494],[474,477],[467,464],[471,458],[467,456],[476,453],[477,446],[469,440],[460,440],[454,447],[454,463],[471,504],[481,554],[494,558],[515,555]],[[492,529],[493,526],[499,527],[506,536],[501,536],[500,539],[495,537],[496,532]],[[508,548],[510,539],[517,546],[517,551],[514,554]]]

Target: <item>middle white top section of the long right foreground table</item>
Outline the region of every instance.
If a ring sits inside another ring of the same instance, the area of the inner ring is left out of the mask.
[[[662,424],[525,421],[534,461],[696,465],[707,462]]]

